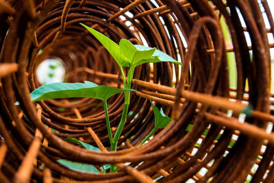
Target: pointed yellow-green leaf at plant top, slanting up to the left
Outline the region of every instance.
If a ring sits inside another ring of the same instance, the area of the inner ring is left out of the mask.
[[[116,60],[116,62],[119,64],[119,66],[127,66],[128,62],[125,58],[125,56],[121,53],[119,45],[117,45],[113,40],[108,38],[107,36],[101,34],[95,29],[92,29],[88,27],[87,25],[84,25],[83,23],[80,23],[83,27],[85,27],[101,44],[105,49],[110,52],[110,54],[113,56],[113,58]]]

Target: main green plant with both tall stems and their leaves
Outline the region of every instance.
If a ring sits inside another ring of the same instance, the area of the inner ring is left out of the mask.
[[[175,64],[180,64],[177,60],[171,58],[171,56],[166,53],[151,47],[145,47],[142,45],[132,45],[132,42],[129,40],[121,39],[119,45],[112,41],[107,36],[97,32],[95,29],[92,29],[81,23],[88,31],[101,42],[101,44],[107,49],[110,54],[116,60],[121,74],[123,77],[124,89],[112,88],[110,86],[98,86],[92,82],[85,82],[85,84],[75,83],[53,83],[41,86],[31,93],[32,101],[40,101],[45,99],[59,99],[59,98],[69,98],[69,97],[92,97],[96,99],[101,99],[103,101],[103,107],[105,110],[105,121],[108,128],[108,136],[110,138],[110,150],[116,151],[117,144],[123,127],[127,120],[127,111],[129,108],[130,101],[130,91],[132,78],[134,76],[134,69],[140,64],[145,64],[148,62],[174,62]],[[125,73],[123,67],[129,67],[127,72],[127,80],[125,79]],[[112,95],[117,93],[125,93],[125,103],[123,107],[123,113],[121,121],[117,127],[117,130],[112,136],[112,131],[110,127],[110,120],[108,117],[108,105],[107,99]],[[115,172],[114,166],[111,166],[110,172]]]

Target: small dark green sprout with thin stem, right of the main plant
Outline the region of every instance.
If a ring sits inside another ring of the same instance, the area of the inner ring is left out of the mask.
[[[172,121],[170,117],[167,117],[166,114],[164,114],[164,111],[162,110],[162,108],[159,110],[152,103],[151,103],[151,107],[154,113],[154,121],[155,121],[154,127],[151,130],[151,132],[147,135],[147,137],[144,140],[142,140],[142,142],[139,145],[142,145],[143,143],[145,143],[154,134],[156,130],[158,130],[159,128],[166,127]]]

